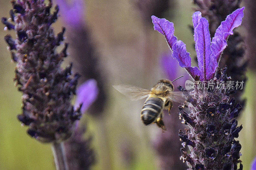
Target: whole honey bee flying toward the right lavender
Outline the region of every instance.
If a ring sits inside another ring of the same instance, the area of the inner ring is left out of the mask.
[[[175,80],[179,78],[176,78]],[[186,100],[186,96],[182,92],[173,92],[173,81],[161,79],[151,88],[151,90],[142,89],[128,84],[113,85],[113,87],[117,91],[129,97],[131,100],[147,98],[143,104],[140,118],[145,125],[156,123],[164,133],[166,131],[166,127],[163,122],[163,110],[168,109],[170,115],[173,101],[183,104]]]

